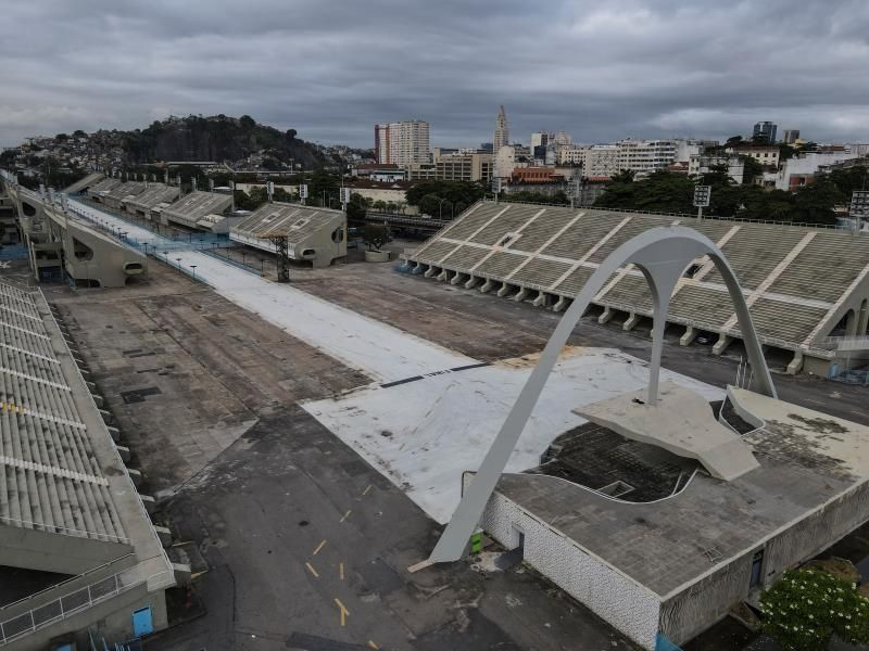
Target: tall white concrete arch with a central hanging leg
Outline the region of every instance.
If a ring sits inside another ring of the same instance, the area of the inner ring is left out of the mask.
[[[670,297],[685,268],[702,255],[708,255],[715,263],[733,301],[748,361],[752,365],[754,390],[777,397],[776,387],[772,385],[760,342],[745,303],[745,296],[725,254],[706,235],[690,228],[675,226],[647,230],[628,240],[610,253],[565,312],[543,348],[537,367],[501,426],[501,431],[489,448],[474,481],[465,490],[446,529],[424,564],[456,561],[462,558],[470,535],[482,516],[486,503],[489,501],[501,473],[504,472],[531,411],[540,398],[543,386],[555,367],[562,348],[585,312],[592,297],[619,267],[628,264],[633,264],[642,270],[652,292],[654,327],[652,330],[648,404],[657,403],[660,354]]]

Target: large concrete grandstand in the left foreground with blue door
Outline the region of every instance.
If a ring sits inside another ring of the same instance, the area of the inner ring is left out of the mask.
[[[0,283],[0,575],[45,576],[33,593],[0,579],[9,649],[81,643],[88,628],[127,639],[143,609],[164,627],[164,592],[181,570],[66,336],[41,292]]]

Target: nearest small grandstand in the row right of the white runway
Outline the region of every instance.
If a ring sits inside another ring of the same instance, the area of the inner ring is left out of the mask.
[[[347,256],[347,216],[342,210],[300,204],[268,203],[232,227],[229,238],[272,253],[269,238],[286,237],[293,260],[306,260],[315,268],[328,267]]]

